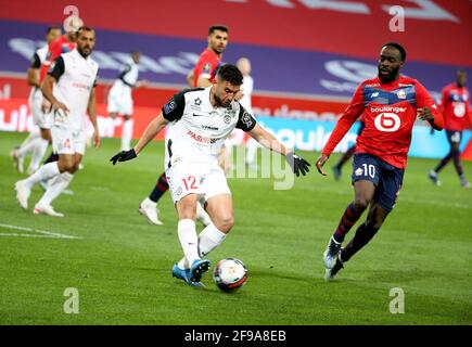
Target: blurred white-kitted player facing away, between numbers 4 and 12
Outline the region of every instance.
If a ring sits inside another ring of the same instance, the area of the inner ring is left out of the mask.
[[[143,82],[138,82],[139,60],[141,53],[131,52],[127,64],[122,68],[118,78],[113,83],[109,93],[107,112],[115,119],[118,115],[124,118],[122,127],[122,151],[129,150],[131,146],[133,120],[132,115],[132,88],[140,87]]]

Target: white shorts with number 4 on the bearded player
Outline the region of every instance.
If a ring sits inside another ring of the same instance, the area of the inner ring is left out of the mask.
[[[54,125],[51,128],[52,150],[56,154],[86,153],[87,134],[85,129],[71,129]]]

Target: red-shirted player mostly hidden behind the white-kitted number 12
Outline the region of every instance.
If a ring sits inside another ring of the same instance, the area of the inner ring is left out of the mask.
[[[212,86],[215,79],[218,67],[222,64],[222,52],[228,46],[228,27],[225,25],[213,25],[208,28],[207,37],[208,46],[200,54],[195,67],[187,75],[187,83],[191,88],[205,88]],[[225,152],[221,155],[226,155]],[[156,184],[151,194],[145,197],[139,205],[139,213],[148,218],[148,220],[156,226],[162,226],[163,222],[158,219],[157,202],[165,192],[169,189],[166,174],[163,172],[157,178]],[[209,216],[204,208],[197,204],[196,218],[204,224],[211,223]]]

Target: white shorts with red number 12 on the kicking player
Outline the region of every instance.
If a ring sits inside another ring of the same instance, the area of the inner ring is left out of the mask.
[[[189,194],[205,201],[219,194],[231,194],[225,172],[218,165],[178,162],[166,170],[174,204]]]

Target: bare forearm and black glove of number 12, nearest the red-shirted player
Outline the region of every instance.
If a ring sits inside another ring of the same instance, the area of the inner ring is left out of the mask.
[[[273,134],[258,124],[250,131],[250,134],[266,149],[276,151],[285,156],[286,163],[289,163],[292,171],[296,176],[299,176],[299,174],[305,176],[309,171],[308,167],[310,164],[307,160],[297,156],[293,151],[289,151]]]

